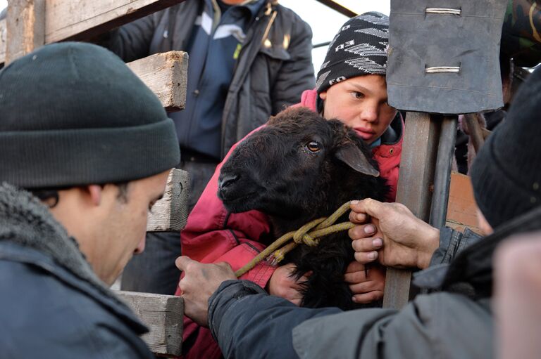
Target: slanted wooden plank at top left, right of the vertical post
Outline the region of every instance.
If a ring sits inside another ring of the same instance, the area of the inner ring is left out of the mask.
[[[87,40],[183,0],[47,0],[45,43]]]

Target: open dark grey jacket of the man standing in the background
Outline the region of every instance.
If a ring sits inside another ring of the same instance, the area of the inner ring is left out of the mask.
[[[185,51],[204,1],[186,0],[120,27],[104,46],[125,61]],[[167,34],[166,36],[164,34]],[[221,157],[250,131],[316,85],[312,32],[297,14],[267,0],[247,30],[222,116]]]

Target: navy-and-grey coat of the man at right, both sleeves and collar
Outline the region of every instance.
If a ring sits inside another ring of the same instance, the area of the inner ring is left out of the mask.
[[[540,228],[537,207],[482,240],[442,230],[430,268],[415,280],[441,292],[402,311],[299,308],[230,280],[209,300],[210,329],[225,358],[492,358],[492,254],[509,235]]]

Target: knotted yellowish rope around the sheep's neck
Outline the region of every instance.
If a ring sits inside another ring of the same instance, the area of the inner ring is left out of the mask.
[[[334,224],[342,214],[346,213],[349,209],[349,202],[346,202],[340,206],[335,213],[328,216],[328,218],[318,218],[306,223],[304,226],[298,230],[293,230],[292,232],[282,235],[282,237],[275,240],[270,246],[266,247],[260,254],[258,254],[254,259],[252,259],[246,266],[240,268],[235,272],[237,278],[246,273],[248,270],[254,268],[259,262],[263,259],[267,259],[273,266],[278,264],[282,259],[284,259],[285,254],[290,252],[294,247],[297,247],[298,244],[306,244],[309,247],[313,247],[319,244],[321,237],[325,235],[330,235],[332,233],[341,232],[342,230],[349,230],[355,225],[351,222],[343,222]],[[309,232],[311,230],[311,232]],[[291,243],[287,243],[290,240],[293,240]],[[286,244],[287,243],[287,244]],[[285,244],[285,245],[284,245]],[[282,247],[283,246],[283,247]]]

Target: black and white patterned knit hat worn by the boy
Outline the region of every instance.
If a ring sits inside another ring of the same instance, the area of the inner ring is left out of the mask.
[[[382,74],[387,70],[389,17],[382,13],[363,13],[347,22],[332,39],[318,72],[318,93],[351,77]]]

